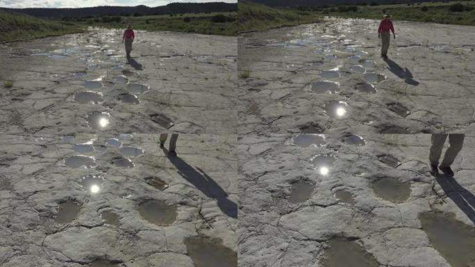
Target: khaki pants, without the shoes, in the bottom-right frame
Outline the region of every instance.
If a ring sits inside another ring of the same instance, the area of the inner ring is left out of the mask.
[[[450,147],[445,152],[444,160],[440,163],[440,167],[450,167],[450,165],[452,165],[458,152],[462,150],[463,139],[465,138],[465,134],[449,134],[448,136]],[[429,161],[431,161],[431,163],[439,163],[446,139],[446,133],[432,135],[431,154],[429,154]]]

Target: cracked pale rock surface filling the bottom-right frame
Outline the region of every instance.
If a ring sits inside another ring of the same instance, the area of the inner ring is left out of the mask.
[[[430,134],[368,133],[363,145],[344,136],[324,134],[326,144],[306,147],[288,134],[240,138],[240,266],[347,266],[335,258],[346,247],[358,248],[347,254],[351,259],[372,262],[361,266],[469,266],[472,247],[454,258],[453,242],[440,245],[451,238],[433,230],[444,226],[424,226],[421,216],[453,220],[462,225],[456,238],[475,242],[475,136],[465,136],[453,178],[429,174]],[[387,165],[381,154],[401,164]],[[335,156],[327,172],[313,165],[317,155]]]

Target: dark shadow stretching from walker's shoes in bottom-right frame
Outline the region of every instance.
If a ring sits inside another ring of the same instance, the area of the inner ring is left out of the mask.
[[[463,188],[458,184],[455,177],[448,177],[447,175],[437,175],[435,177],[437,183],[444,190],[447,197],[462,210],[467,217],[475,223],[475,196],[472,192]]]

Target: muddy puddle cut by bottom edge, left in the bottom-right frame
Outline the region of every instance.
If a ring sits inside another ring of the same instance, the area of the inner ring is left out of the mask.
[[[355,241],[334,238],[328,241],[323,260],[324,267],[378,267],[374,259],[361,245]]]

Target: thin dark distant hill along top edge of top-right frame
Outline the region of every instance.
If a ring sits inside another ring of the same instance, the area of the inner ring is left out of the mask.
[[[356,5],[360,3],[379,3],[379,4],[392,4],[392,3],[420,3],[420,2],[433,2],[434,0],[250,0],[256,3],[262,3],[266,6],[326,6],[326,5]],[[442,1],[442,0],[435,0]]]

